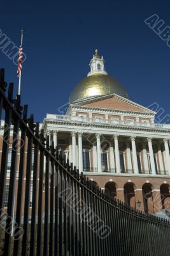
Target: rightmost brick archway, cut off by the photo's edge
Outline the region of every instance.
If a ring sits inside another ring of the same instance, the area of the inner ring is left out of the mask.
[[[169,184],[162,184],[160,186],[160,197],[162,202],[162,209],[167,209],[170,211]]]

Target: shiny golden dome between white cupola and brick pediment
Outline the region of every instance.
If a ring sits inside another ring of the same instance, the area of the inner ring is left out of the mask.
[[[111,76],[105,74],[93,74],[85,77],[71,92],[69,103],[79,102],[83,99],[116,93],[129,99],[128,93],[122,84],[118,83]]]

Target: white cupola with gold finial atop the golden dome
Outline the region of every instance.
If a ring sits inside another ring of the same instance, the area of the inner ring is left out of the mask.
[[[103,56],[99,56],[98,50],[95,51],[95,54],[92,60],[90,60],[89,65],[91,70],[87,76],[92,76],[93,74],[108,74],[106,71],[104,71],[104,59]]]

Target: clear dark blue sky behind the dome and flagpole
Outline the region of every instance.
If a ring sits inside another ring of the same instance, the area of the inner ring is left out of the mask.
[[[4,1],[0,29],[17,45],[25,30],[22,104],[36,121],[57,113],[97,48],[131,100],[169,115],[170,48],[144,22],[157,13],[170,26],[169,9],[169,1]],[[0,66],[17,89],[17,67],[1,50]]]

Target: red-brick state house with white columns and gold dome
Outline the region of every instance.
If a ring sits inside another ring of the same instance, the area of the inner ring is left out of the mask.
[[[90,72],[71,92],[66,113],[47,114],[42,127],[97,186],[155,214],[170,210],[170,125],[156,124],[155,115],[129,99],[104,70],[96,50]]]

